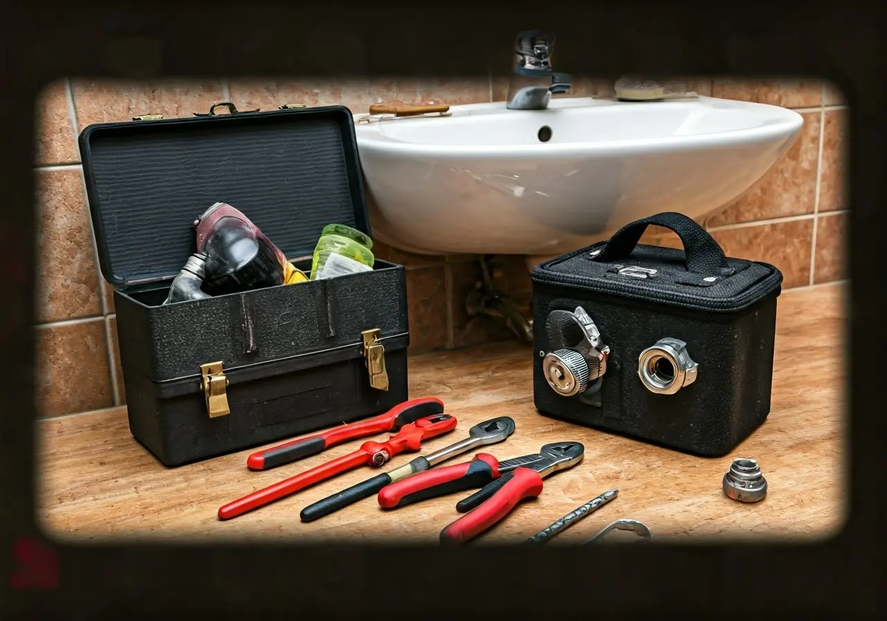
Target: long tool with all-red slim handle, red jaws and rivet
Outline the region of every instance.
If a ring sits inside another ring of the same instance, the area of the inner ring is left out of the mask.
[[[427,416],[400,428],[394,436],[385,442],[365,442],[355,452],[350,452],[316,468],[310,468],[301,474],[291,476],[279,483],[274,483],[262,490],[254,491],[241,499],[229,502],[218,511],[219,519],[228,520],[247,511],[263,507],[300,491],[326,481],[343,472],[359,466],[382,466],[395,455],[404,451],[419,451],[423,440],[440,436],[456,427],[456,419],[449,414]]]

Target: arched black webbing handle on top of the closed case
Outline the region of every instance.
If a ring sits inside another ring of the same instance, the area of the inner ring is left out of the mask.
[[[720,276],[729,276],[734,272],[726,263],[724,250],[718,245],[718,242],[692,218],[674,211],[665,211],[655,216],[635,220],[631,224],[625,224],[613,234],[600,253],[593,256],[593,260],[609,263],[627,259],[650,224],[662,226],[678,234],[684,245],[688,271]]]

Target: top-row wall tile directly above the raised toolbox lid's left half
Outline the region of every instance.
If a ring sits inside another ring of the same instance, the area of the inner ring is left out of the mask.
[[[217,82],[75,80],[71,87],[80,130],[91,123],[130,121],[141,114],[191,117],[223,101],[222,84]]]

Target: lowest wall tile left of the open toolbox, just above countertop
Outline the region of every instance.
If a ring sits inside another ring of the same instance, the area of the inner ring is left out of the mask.
[[[36,336],[40,416],[114,405],[104,320],[40,327]]]

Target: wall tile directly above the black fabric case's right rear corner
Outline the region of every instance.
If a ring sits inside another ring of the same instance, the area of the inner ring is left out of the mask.
[[[791,220],[711,232],[727,256],[763,261],[782,272],[783,288],[810,284],[813,220]]]

